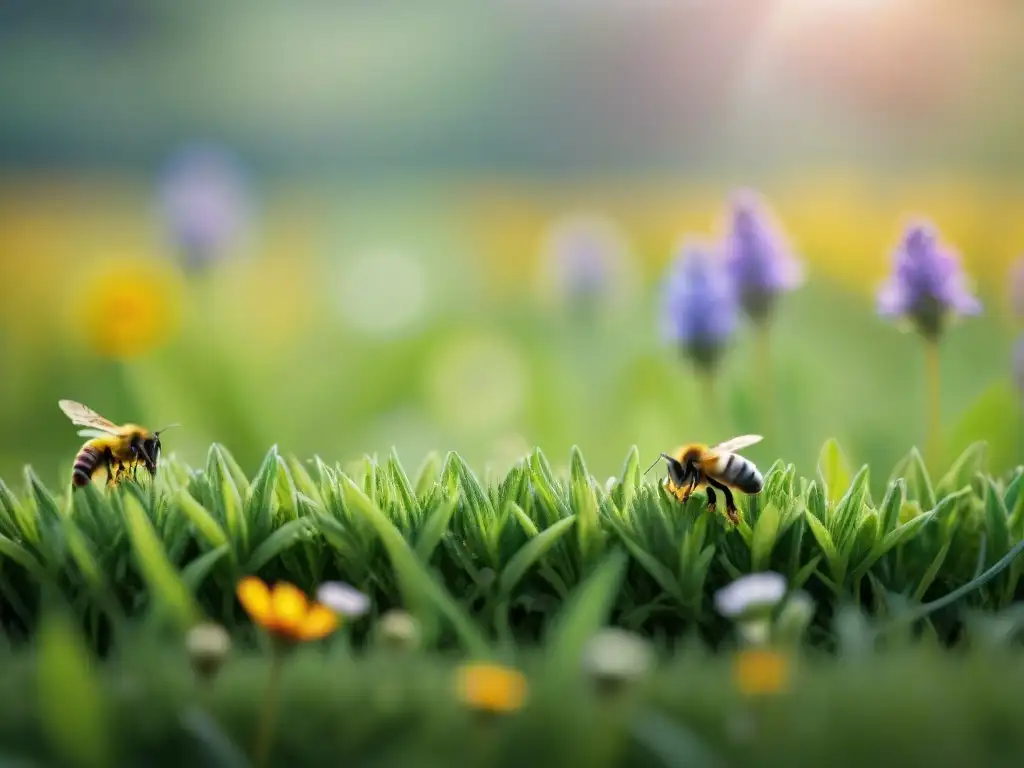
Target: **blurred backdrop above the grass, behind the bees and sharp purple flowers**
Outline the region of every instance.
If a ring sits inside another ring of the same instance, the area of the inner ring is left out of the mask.
[[[926,434],[921,340],[876,312],[913,216],[984,303],[943,453],[1008,468],[1022,71],[1016,0],[0,0],[0,476],[67,481],[70,397],[249,471],[578,444],[604,476],[762,431],[879,482]],[[660,297],[741,187],[805,280],[702,383]]]

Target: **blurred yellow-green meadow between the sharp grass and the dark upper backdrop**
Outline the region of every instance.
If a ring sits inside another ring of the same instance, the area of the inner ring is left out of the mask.
[[[480,471],[534,445],[554,457],[579,445],[608,475],[624,446],[646,456],[755,431],[766,435],[750,454],[761,463],[782,457],[809,473],[835,436],[854,462],[891,466],[924,450],[925,365],[918,339],[877,316],[874,291],[918,215],[961,252],[984,303],[943,340],[946,444],[932,469],[977,439],[993,471],[1015,466],[1008,282],[1024,200],[987,178],[796,179],[761,188],[806,283],[779,302],[769,359],[740,327],[709,396],[659,338],[658,313],[679,239],[721,229],[721,181],[282,181],[260,189],[230,249],[189,271],[142,180],[8,178],[0,250],[13,258],[0,284],[17,290],[0,307],[0,476],[32,464],[62,481],[76,439],[61,397],[115,421],[180,422],[168,451],[195,463],[221,442],[249,472],[271,444],[342,461],[394,446],[414,464],[456,450]],[[629,246],[590,303],[566,295],[544,250],[577,211],[608,217]],[[145,321],[118,342],[90,317],[125,291]]]

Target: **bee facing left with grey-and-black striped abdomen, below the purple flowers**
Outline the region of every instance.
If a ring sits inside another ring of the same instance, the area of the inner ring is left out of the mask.
[[[725,496],[726,516],[731,522],[738,523],[739,511],[732,498],[732,489],[744,494],[760,494],[764,487],[764,477],[754,462],[744,459],[736,452],[761,442],[762,439],[764,438],[761,435],[748,434],[711,447],[701,443],[690,443],[676,451],[675,456],[662,454],[647,472],[665,459],[669,462],[669,476],[665,478],[665,489],[673,498],[685,504],[694,490],[705,488],[708,494],[708,511],[715,512],[718,503],[715,494],[717,488]]]

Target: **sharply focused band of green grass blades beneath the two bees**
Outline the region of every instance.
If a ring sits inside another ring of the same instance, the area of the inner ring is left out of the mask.
[[[874,468],[888,479],[873,496],[872,470],[829,440],[811,478],[781,461],[767,469],[764,492],[739,498],[737,528],[707,514],[701,494],[681,508],[641,471],[635,449],[608,482],[578,451],[564,475],[537,450],[478,478],[454,453],[407,472],[394,456],[342,467],[271,450],[247,477],[216,444],[201,469],[172,458],[155,483],[110,493],[53,492],[29,469],[17,490],[0,484],[3,622],[30,636],[61,599],[100,649],[136,617],[185,628],[206,616],[244,638],[243,575],[307,591],[340,579],[378,612],[413,611],[429,646],[484,652],[544,637],[614,553],[625,560],[609,621],[659,642],[719,645],[729,625],[715,591],[769,569],[814,599],[809,638],[821,647],[848,605],[880,621],[916,610],[951,642],[965,609],[998,612],[1024,594],[1024,472],[989,475],[981,443],[941,476],[915,450]]]

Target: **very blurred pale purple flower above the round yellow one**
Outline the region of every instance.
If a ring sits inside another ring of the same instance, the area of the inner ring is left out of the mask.
[[[168,164],[160,193],[171,240],[190,268],[222,255],[244,226],[242,173],[217,146],[197,143],[180,150]]]

